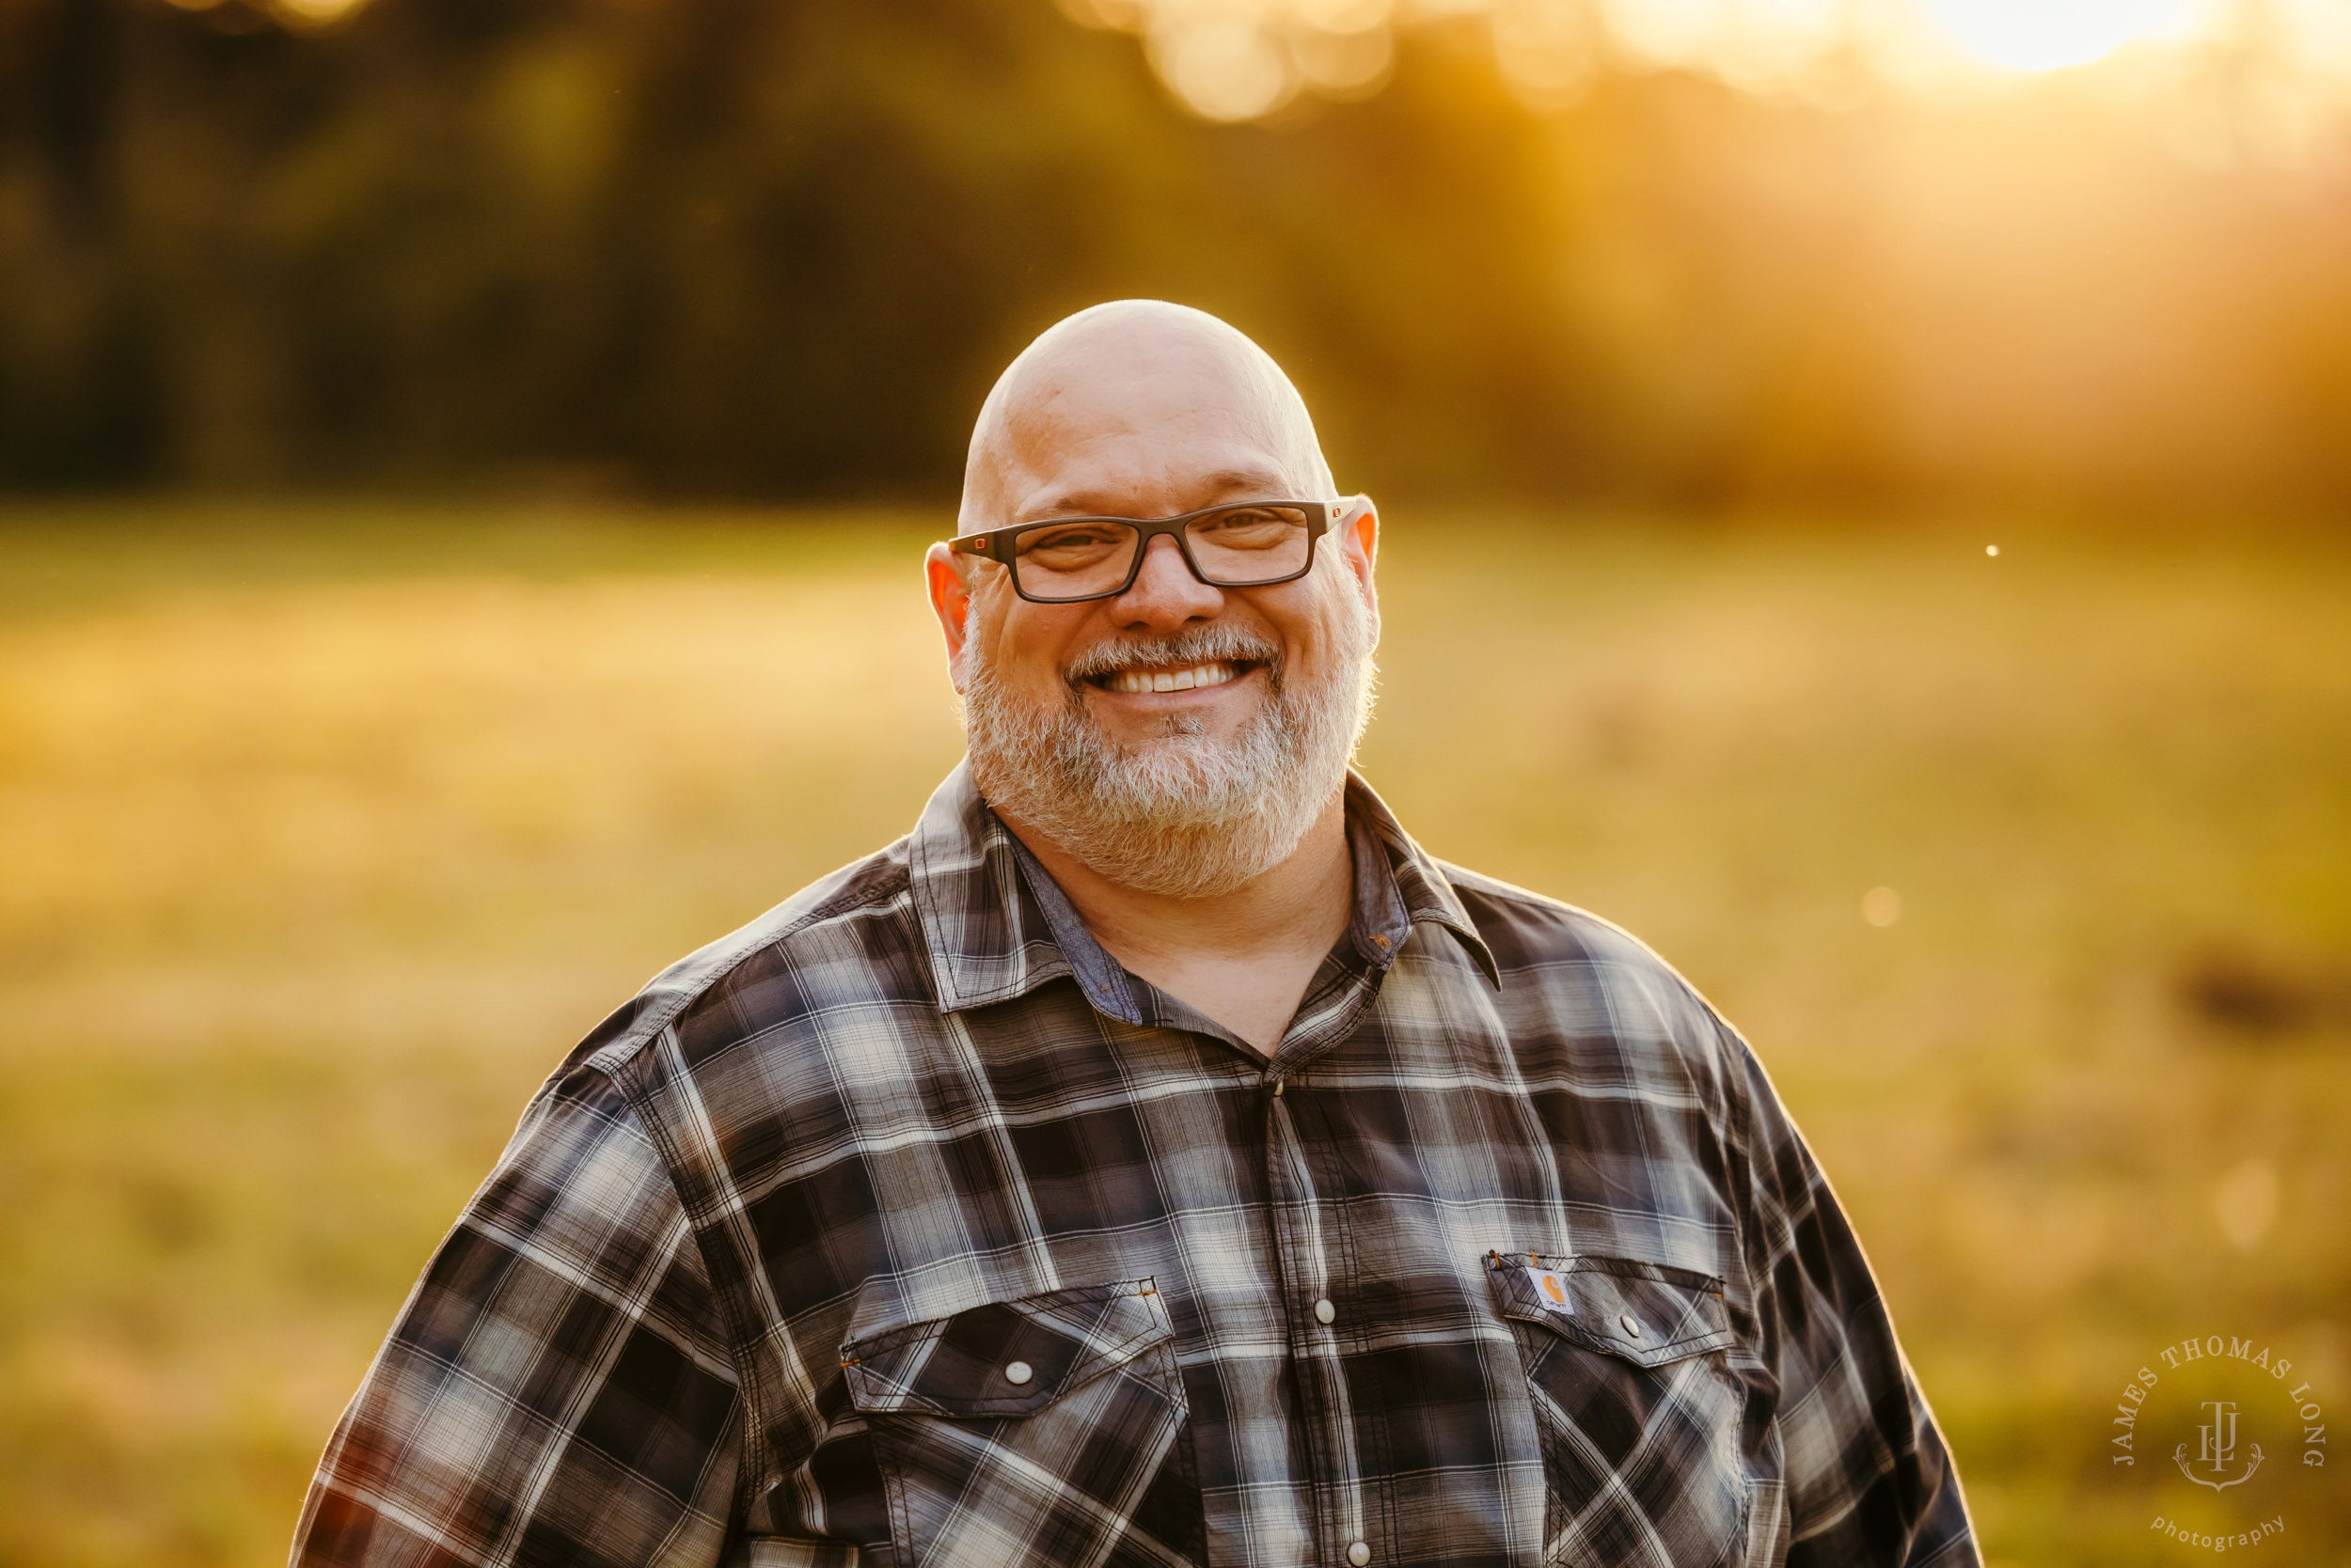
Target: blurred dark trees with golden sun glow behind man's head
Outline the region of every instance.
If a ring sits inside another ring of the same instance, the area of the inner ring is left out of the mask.
[[[1152,294],[1349,487],[2342,505],[2351,162],[2175,132],[1538,113],[1441,26],[1208,125],[1046,0],[0,0],[0,484],[940,496],[1030,334]]]

